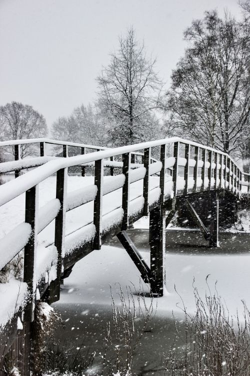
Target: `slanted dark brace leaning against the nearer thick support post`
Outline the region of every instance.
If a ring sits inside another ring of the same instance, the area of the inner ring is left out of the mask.
[[[135,247],[127,233],[125,231],[121,231],[116,236],[119,239],[122,246],[124,247],[124,249],[126,250],[126,252],[128,253],[131,260],[133,261],[134,265],[140,272],[143,281],[145,283],[149,283],[150,269],[146,265],[143,258],[140,256],[137,248]]]

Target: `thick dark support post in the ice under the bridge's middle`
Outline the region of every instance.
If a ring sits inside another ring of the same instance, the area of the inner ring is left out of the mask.
[[[149,213],[150,287],[154,296],[162,296],[165,286],[165,210],[157,207]]]

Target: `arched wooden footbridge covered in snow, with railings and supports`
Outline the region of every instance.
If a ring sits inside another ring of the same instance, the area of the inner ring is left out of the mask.
[[[40,155],[21,159],[20,150],[28,144],[38,145]],[[46,156],[45,150],[55,144],[60,145],[61,156]],[[217,247],[220,214],[227,211],[232,216],[242,195],[246,197],[250,192],[250,175],[229,155],[178,137],[118,148],[49,139],[4,141],[0,147],[12,147],[15,156],[14,161],[0,163],[1,174],[11,171],[15,174],[15,179],[0,185],[0,209],[8,203],[8,211],[13,212],[14,218],[15,200],[25,195],[24,222],[0,239],[1,274],[6,274],[6,266],[20,252],[24,255],[23,276],[18,280],[17,292],[13,281],[4,281],[1,277],[0,293],[9,297],[5,306],[4,295],[1,296],[1,310],[7,311],[7,319],[0,329],[1,364],[9,351],[12,354],[24,351],[18,365],[24,375],[29,369],[29,333],[35,304],[39,299],[50,303],[59,299],[61,280],[69,275],[78,260],[117,236],[153,295],[162,296],[165,228],[175,212],[184,208],[208,246]],[[68,157],[69,149],[74,149],[76,155]],[[93,181],[67,192],[68,172],[76,166],[83,180],[86,171],[92,168]],[[31,170],[20,174],[26,169]],[[39,206],[39,183],[50,176],[56,178],[54,197],[47,197],[47,202]],[[106,212],[104,204],[109,208]],[[78,207],[82,208],[84,226],[67,233],[67,212]],[[147,215],[150,266],[126,232],[133,222]],[[52,227],[51,223],[54,223]],[[53,241],[41,246],[37,236],[47,226],[52,229]],[[25,300],[18,299],[20,291],[24,291]],[[20,338],[25,350],[20,349]]]

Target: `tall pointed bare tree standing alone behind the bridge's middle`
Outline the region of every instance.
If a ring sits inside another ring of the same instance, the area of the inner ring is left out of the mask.
[[[153,110],[159,105],[161,81],[154,72],[155,60],[148,59],[133,28],[119,38],[117,52],[97,77],[98,105],[110,122],[114,145],[151,138],[158,126]]]

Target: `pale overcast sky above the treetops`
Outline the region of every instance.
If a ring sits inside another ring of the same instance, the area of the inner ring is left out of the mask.
[[[95,98],[95,78],[131,25],[169,85],[182,32],[205,10],[236,0],[0,0],[0,105],[30,104],[48,126]]]

